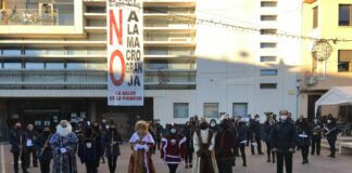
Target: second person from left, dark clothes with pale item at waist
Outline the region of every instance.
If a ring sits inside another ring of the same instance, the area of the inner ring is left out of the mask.
[[[26,132],[26,167],[29,168],[30,164],[30,154],[33,155],[33,165],[38,167],[37,161],[37,139],[38,139],[38,132],[34,130],[34,125],[29,123],[27,125],[27,132]]]

